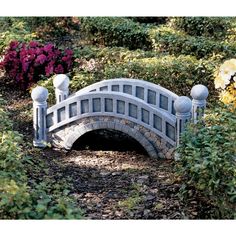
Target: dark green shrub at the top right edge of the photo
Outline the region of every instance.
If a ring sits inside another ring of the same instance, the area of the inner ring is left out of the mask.
[[[189,35],[222,38],[230,28],[229,17],[173,17],[172,27],[181,29]]]

